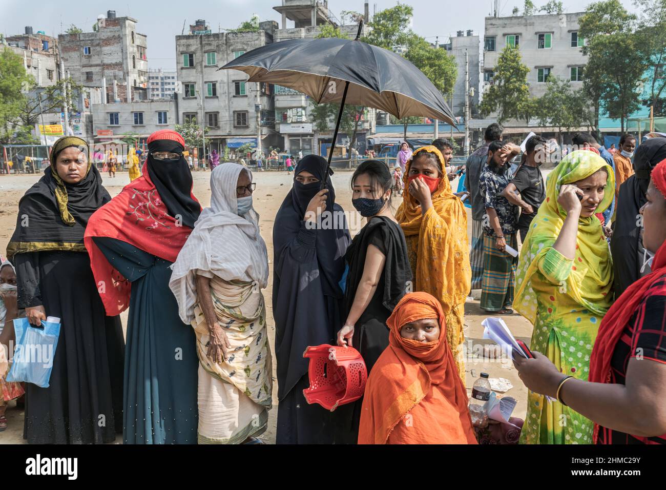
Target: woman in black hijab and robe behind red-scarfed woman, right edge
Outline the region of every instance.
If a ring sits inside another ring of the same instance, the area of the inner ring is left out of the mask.
[[[663,159],[666,159],[666,138],[651,138],[641,143],[633,157],[635,174],[620,186],[611,237],[615,299],[635,281],[650,273],[648,265],[643,267],[649,256],[643,248],[643,220],[639,210],[647,202],[645,193],[650,173]]]

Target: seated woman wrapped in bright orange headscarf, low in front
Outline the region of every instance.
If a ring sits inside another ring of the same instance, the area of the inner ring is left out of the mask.
[[[440,302],[405,295],[386,321],[389,346],[368,378],[359,444],[476,444]]]

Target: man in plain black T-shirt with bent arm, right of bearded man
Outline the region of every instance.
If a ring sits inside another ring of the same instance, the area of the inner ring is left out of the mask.
[[[527,140],[523,163],[501,193],[510,203],[521,209],[518,219],[521,243],[525,242],[529,224],[545,199],[545,184],[539,167],[547,155],[546,145],[547,141],[541,136],[533,136]]]

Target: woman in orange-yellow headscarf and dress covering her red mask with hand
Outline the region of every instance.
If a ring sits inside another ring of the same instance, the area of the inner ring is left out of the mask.
[[[434,146],[414,151],[403,180],[404,200],[396,219],[407,242],[416,281],[413,289],[430,293],[441,303],[447,341],[464,380],[462,327],[472,283],[465,207],[451,190],[444,157]]]

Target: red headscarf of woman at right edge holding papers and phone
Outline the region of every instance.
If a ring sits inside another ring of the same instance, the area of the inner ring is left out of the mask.
[[[652,171],[652,183],[666,199],[666,160],[657,163]],[[636,311],[645,292],[652,283],[666,274],[666,242],[661,244],[652,262],[652,272],[641,277],[629,286],[615,300],[599,326],[597,341],[594,343],[589,361],[589,381],[592,383],[609,383],[611,380],[611,358],[627,323]],[[594,425],[593,441],[599,437],[599,425]]]

